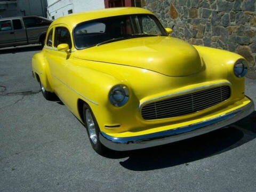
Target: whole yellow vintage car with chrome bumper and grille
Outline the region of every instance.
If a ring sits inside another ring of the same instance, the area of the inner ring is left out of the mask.
[[[246,60],[171,37],[153,13],[116,8],[52,22],[33,75],[81,121],[99,154],[164,145],[249,115]]]

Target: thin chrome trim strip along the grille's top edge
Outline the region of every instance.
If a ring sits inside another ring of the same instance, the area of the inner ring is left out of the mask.
[[[180,91],[180,92],[176,92],[176,93],[171,93],[171,94],[163,95],[161,97],[157,97],[157,98],[153,98],[153,99],[149,99],[149,100],[143,101],[139,105],[139,110],[141,110],[142,106],[145,105],[146,103],[150,103],[150,102],[156,101],[158,99],[165,99],[165,98],[173,97],[175,95],[179,95],[179,94],[183,94],[183,93],[188,93],[188,92],[193,92],[193,91],[197,91],[197,90],[203,90],[205,88],[210,88],[210,87],[219,86],[219,85],[231,85],[231,84],[229,82],[215,83],[215,84],[211,84],[211,85],[205,85],[205,86],[196,87],[196,88],[190,89],[190,90],[185,90],[185,91]]]

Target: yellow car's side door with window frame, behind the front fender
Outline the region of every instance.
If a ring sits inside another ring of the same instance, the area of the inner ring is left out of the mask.
[[[68,95],[66,93],[70,91],[67,84],[67,66],[69,65],[70,53],[58,51],[57,47],[64,43],[69,45],[69,49],[72,48],[69,30],[65,26],[56,26],[54,29],[54,41],[52,47],[47,47],[46,43],[46,49],[49,48],[47,50],[47,61],[51,71],[54,91],[63,102],[68,100]],[[67,102],[65,102],[65,104],[67,105]]]

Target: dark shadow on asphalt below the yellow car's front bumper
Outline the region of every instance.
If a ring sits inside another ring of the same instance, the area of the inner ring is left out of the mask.
[[[148,149],[117,152],[107,158],[125,158],[120,165],[132,171],[148,171],[197,161],[243,145],[256,137],[256,111],[250,116],[220,129],[195,138]]]

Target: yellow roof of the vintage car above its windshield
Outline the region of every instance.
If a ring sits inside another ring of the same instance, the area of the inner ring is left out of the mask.
[[[78,23],[81,23],[84,21],[90,21],[90,20],[106,18],[106,17],[113,17],[118,15],[127,15],[127,14],[153,14],[153,13],[146,9],[142,9],[138,7],[108,8],[108,9],[69,14],[54,20],[51,26],[58,25],[58,24],[66,24],[68,28],[71,30]]]

